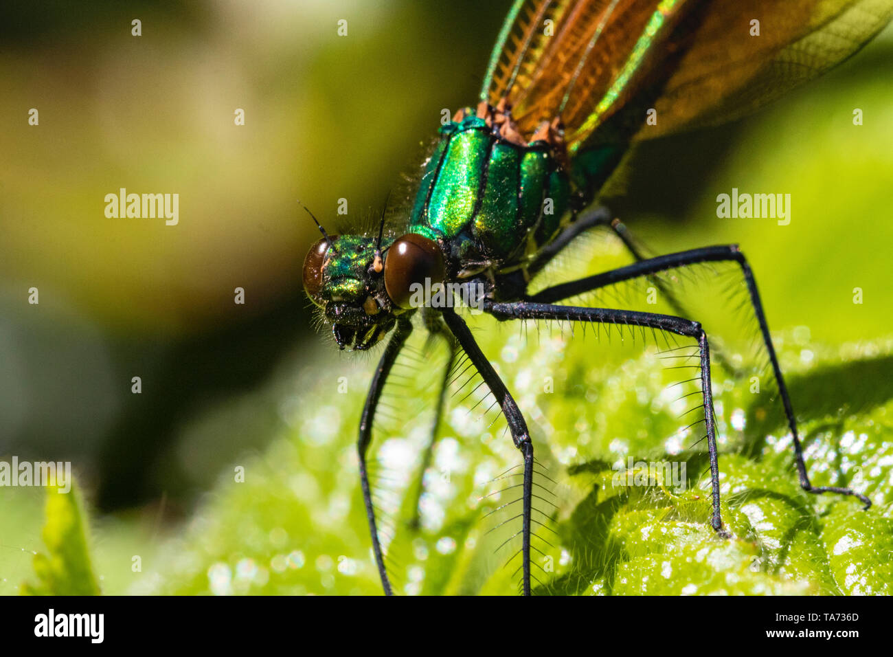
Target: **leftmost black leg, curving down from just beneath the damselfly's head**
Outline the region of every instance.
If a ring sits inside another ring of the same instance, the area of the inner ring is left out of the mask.
[[[406,338],[413,332],[413,324],[408,320],[400,320],[397,322],[396,331],[388,341],[385,352],[381,355],[379,366],[372,375],[372,383],[369,386],[369,393],[366,395],[366,404],[363,407],[363,417],[360,418],[360,438],[356,443],[356,450],[360,455],[360,485],[363,487],[363,501],[366,504],[366,517],[369,518],[369,530],[372,535],[372,552],[375,554],[375,563],[379,567],[379,575],[381,576],[381,586],[385,590],[385,595],[392,595],[390,582],[388,581],[388,571],[385,569],[384,556],[381,553],[381,542],[379,541],[379,532],[375,526],[375,508],[372,506],[372,495],[369,488],[369,473],[366,471],[366,451],[369,449],[369,443],[372,438],[372,421],[375,418],[375,410],[378,408],[381,391],[384,389],[385,382],[388,380],[391,367],[400,350],[405,344]]]

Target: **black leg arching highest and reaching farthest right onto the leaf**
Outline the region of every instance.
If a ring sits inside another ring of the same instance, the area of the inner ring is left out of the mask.
[[[623,239],[624,235],[622,233],[625,233],[625,228],[622,228],[622,224],[620,224],[620,226],[615,224],[614,228],[615,230],[618,230],[619,228],[621,229],[618,234],[621,234]],[[628,238],[624,239],[624,242],[627,242],[627,240]],[[630,246],[630,250],[632,250],[633,255],[638,257],[638,252],[633,247]],[[741,272],[747,283],[747,293],[750,296],[750,303],[754,308],[757,324],[760,326],[760,334],[763,338],[766,350],[769,352],[769,359],[772,363],[772,372],[775,375],[775,380],[778,382],[785,416],[788,418],[790,432],[794,438],[794,454],[797,461],[797,474],[800,479],[800,485],[808,493],[839,493],[841,495],[851,495],[859,501],[862,501],[865,505],[864,508],[868,509],[872,505],[872,501],[860,493],[855,493],[855,491],[849,488],[839,488],[837,486],[814,486],[809,483],[809,476],[806,474],[806,464],[803,459],[803,447],[800,444],[800,439],[797,434],[797,419],[794,417],[794,407],[790,403],[788,386],[785,385],[778,357],[775,355],[775,348],[772,345],[772,336],[769,334],[769,324],[766,322],[763,302],[760,300],[760,293],[756,289],[754,273],[751,271],[750,265],[747,263],[747,258],[744,257],[744,254],[741,253],[741,250],[737,245],[732,244],[728,246],[693,248],[689,251],[680,251],[679,253],[671,253],[666,256],[640,260],[632,265],[613,269],[609,272],[587,276],[578,281],[555,285],[554,287],[547,288],[546,290],[532,295],[527,300],[536,303],[549,304],[561,299],[567,299],[568,297],[577,294],[594,291],[607,285],[613,285],[614,283],[629,281],[630,279],[651,274],[659,274],[660,272],[676,267],[696,265],[698,263],[706,262],[736,262],[741,267]],[[678,304],[675,303],[674,305],[678,306]]]

